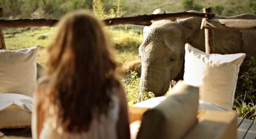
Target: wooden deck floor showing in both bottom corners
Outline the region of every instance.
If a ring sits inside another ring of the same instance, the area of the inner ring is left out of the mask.
[[[20,129],[0,129],[0,139],[31,139],[31,127]],[[256,139],[256,122],[237,119],[237,139]]]

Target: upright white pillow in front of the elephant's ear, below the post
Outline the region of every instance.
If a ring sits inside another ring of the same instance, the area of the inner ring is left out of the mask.
[[[206,54],[188,43],[185,51],[184,83],[199,87],[200,100],[231,110],[239,67],[246,55]]]

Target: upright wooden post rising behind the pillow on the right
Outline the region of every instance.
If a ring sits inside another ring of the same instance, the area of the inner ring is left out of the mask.
[[[203,13],[211,13],[211,8],[203,8]],[[205,16],[207,19],[210,17]],[[213,29],[204,29],[204,35],[205,35],[205,53],[210,54],[214,52],[214,42],[213,42],[213,35],[214,31]]]

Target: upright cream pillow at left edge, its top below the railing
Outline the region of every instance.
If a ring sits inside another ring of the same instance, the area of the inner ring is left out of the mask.
[[[0,94],[33,96],[37,85],[37,46],[0,50]]]

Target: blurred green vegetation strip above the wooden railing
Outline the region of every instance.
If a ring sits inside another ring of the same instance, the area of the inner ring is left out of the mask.
[[[108,12],[114,8],[115,0],[101,0]],[[124,16],[151,14],[155,9],[164,9],[167,13],[183,12],[186,6],[183,1],[191,0],[123,0]],[[5,19],[11,18],[57,18],[77,9],[92,10],[92,0],[0,0]],[[194,0],[195,5],[215,7],[214,13],[232,16],[242,13],[256,14],[255,0]],[[195,6],[194,5],[194,6]],[[193,7],[193,6],[192,6]],[[194,7],[195,8],[195,7]],[[202,9],[200,9],[202,12]]]

